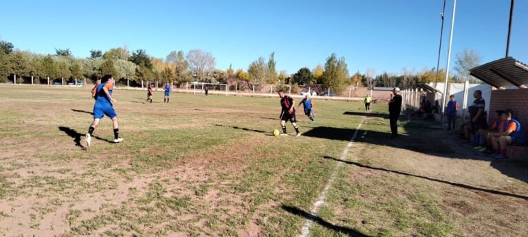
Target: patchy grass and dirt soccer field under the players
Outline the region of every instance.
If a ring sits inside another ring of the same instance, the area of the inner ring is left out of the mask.
[[[478,159],[406,121],[391,141],[386,105],[364,117],[361,103],[315,100],[316,124],[297,112],[303,136],[287,124],[292,136],[274,137],[278,97],[114,98],[124,142],[105,117],[85,149],[88,88],[0,85],[0,235],[528,233],[525,164]]]

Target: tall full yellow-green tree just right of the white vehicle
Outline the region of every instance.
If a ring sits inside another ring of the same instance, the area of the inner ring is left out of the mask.
[[[349,85],[349,69],[344,58],[338,59],[336,54],[331,54],[325,63],[325,72],[322,74],[322,84],[336,94],[342,93]]]

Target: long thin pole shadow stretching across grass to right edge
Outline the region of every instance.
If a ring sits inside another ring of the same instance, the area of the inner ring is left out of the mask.
[[[421,176],[421,175],[417,175],[417,174],[409,174],[409,173],[401,172],[401,171],[397,171],[397,170],[388,170],[386,168],[378,168],[378,167],[373,167],[373,166],[366,166],[366,165],[364,165],[362,163],[353,162],[353,161],[344,161],[342,159],[336,159],[334,157],[325,156],[324,158],[325,159],[332,159],[334,161],[339,161],[339,162],[342,162],[342,163],[347,163],[349,165],[359,166],[361,168],[367,168],[367,169],[370,169],[370,170],[380,170],[380,171],[385,171],[385,172],[391,172],[391,173],[394,173],[394,174],[401,174],[401,175],[405,175],[405,176],[408,176],[408,177],[415,177],[415,178],[419,178],[419,179],[426,179],[428,181],[434,181],[434,182],[438,182],[438,183],[445,183],[445,184],[453,185],[453,186],[456,186],[456,187],[459,187],[459,188],[465,188],[465,189],[474,190],[474,191],[488,192],[490,194],[497,194],[497,195],[502,195],[502,196],[511,196],[511,197],[518,198],[518,199],[528,200],[528,196],[523,196],[523,195],[520,195],[520,194],[511,194],[509,192],[503,192],[503,191],[498,191],[498,190],[490,190],[490,189],[487,189],[487,188],[478,188],[478,187],[474,187],[472,185],[467,185],[467,184],[463,184],[463,183],[454,183],[452,181],[434,179],[434,178]]]

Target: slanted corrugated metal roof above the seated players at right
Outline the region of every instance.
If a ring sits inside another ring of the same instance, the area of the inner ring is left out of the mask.
[[[514,85],[519,88],[527,88],[528,65],[511,57],[500,58],[470,69],[471,76],[492,85],[498,89]]]

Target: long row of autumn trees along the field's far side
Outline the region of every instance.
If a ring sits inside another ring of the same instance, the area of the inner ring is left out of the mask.
[[[409,89],[419,83],[434,82],[437,78],[436,69],[421,71],[401,69],[398,74],[382,72],[377,74],[374,69],[367,69],[362,74],[359,71],[349,74],[344,57],[331,54],[325,65],[317,65],[314,69],[303,67],[289,75],[287,71],[276,71],[275,54],[272,52],[266,59],[259,57],[248,66],[247,70],[216,68],[216,59],[210,52],[192,49],[188,52],[173,51],[166,58],[149,56],[144,49],[130,51],[128,47],[115,47],[106,52],[90,50],[87,58],[72,56],[69,49],[55,49],[54,55],[36,54],[14,49],[12,43],[0,41],[0,82],[12,81],[17,75],[17,82],[24,82],[33,77],[36,83],[47,83],[64,78],[72,80],[95,81],[104,74],[114,75],[118,84],[129,80],[131,86],[137,86],[142,81],[174,82],[177,86],[186,82],[199,81],[208,83],[227,83],[239,89],[259,90],[266,84],[289,84],[298,88],[304,84],[322,84],[322,88],[331,89],[339,94],[347,87],[401,87]],[[450,81],[474,80],[468,70],[480,63],[481,57],[473,50],[464,49],[456,55],[458,74],[450,77]],[[445,72],[438,71],[440,81]]]

